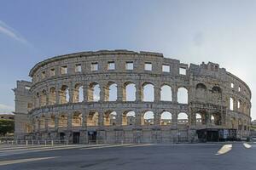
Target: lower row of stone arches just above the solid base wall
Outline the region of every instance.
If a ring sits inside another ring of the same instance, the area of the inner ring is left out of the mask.
[[[169,111],[163,111],[160,114],[159,125],[171,126],[175,119],[177,124],[189,125],[189,116],[185,112],[177,114],[177,118]],[[141,126],[155,125],[157,124],[157,117],[153,111],[144,111],[139,117]],[[195,125],[207,124],[207,117],[201,113],[195,114]],[[220,125],[218,122],[218,115],[212,114],[211,123],[212,125]],[[83,125],[84,123],[84,125]],[[47,125],[46,125],[47,124]],[[102,119],[97,111],[91,111],[87,116],[83,116],[81,112],[76,111],[71,116],[67,114],[50,115],[35,117],[33,125],[35,129],[44,129],[46,127],[94,127],[94,126],[134,126],[137,124],[137,116],[134,111],[125,111],[121,117],[119,117],[116,111],[104,112]]]

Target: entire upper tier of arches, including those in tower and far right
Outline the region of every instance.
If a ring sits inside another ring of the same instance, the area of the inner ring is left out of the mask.
[[[222,100],[222,89],[214,86],[211,90],[211,98],[215,101]],[[198,83],[195,86],[195,98],[207,100],[207,86]],[[160,96],[160,97],[158,97]],[[154,87],[151,82],[143,83],[142,89],[137,89],[133,82],[125,82],[121,87],[115,82],[108,82],[106,87],[101,87],[97,82],[91,82],[88,87],[84,87],[82,83],[76,83],[73,88],[62,85],[61,88],[49,88],[49,92],[43,89],[42,92],[36,94],[35,107],[55,104],[79,103],[83,101],[136,101],[141,99],[144,102],[174,101],[180,104],[188,104],[189,94],[186,88],[172,88],[170,85],[163,84],[160,89]],[[250,107],[241,99],[230,97],[228,104],[230,111],[240,111],[249,114]]]

